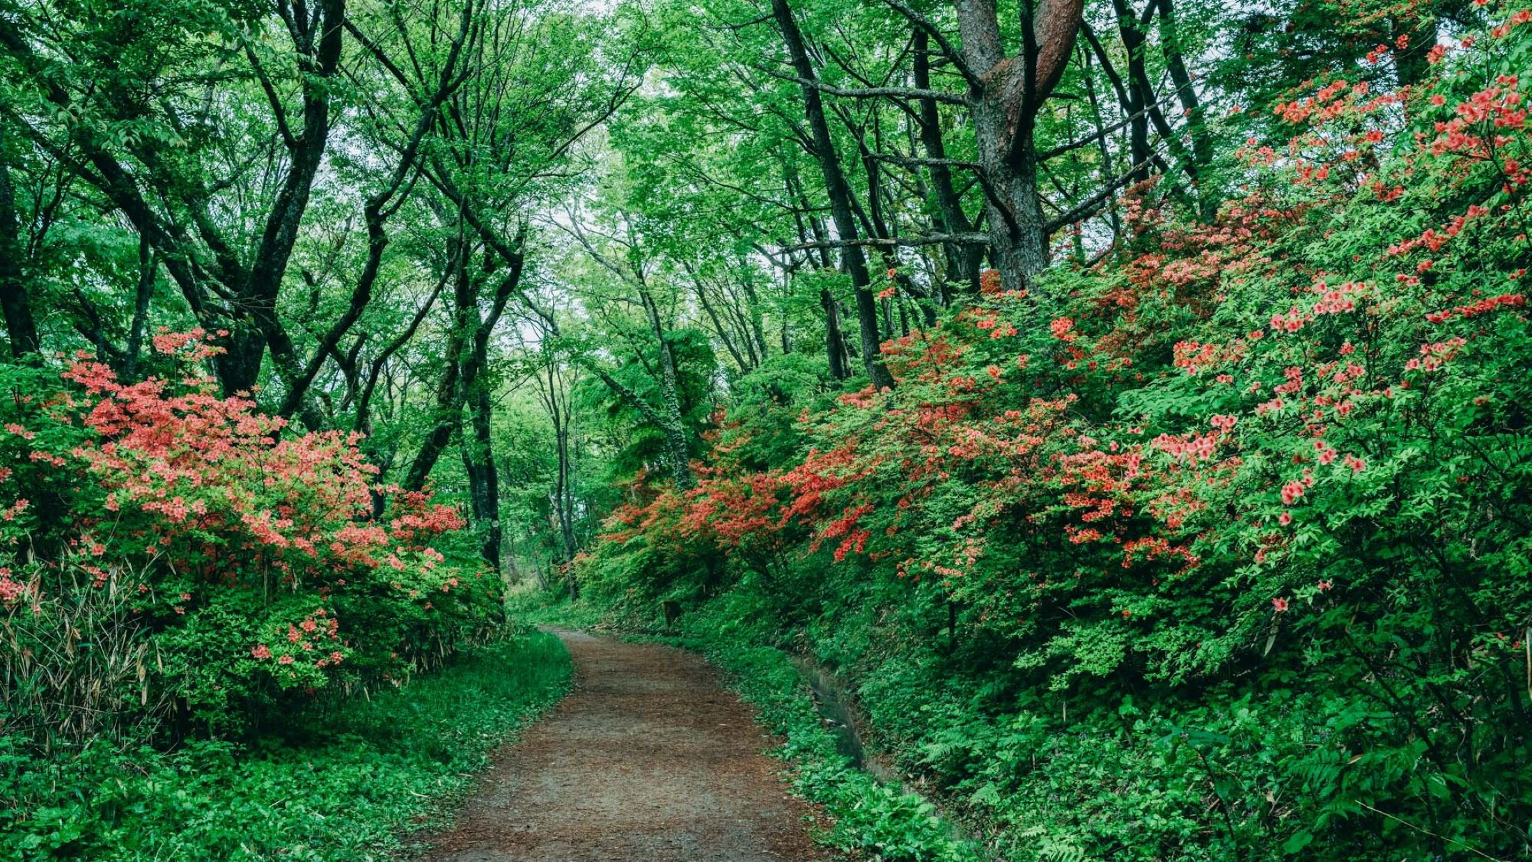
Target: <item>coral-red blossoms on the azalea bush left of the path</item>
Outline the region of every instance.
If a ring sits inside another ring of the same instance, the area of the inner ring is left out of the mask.
[[[239,612],[274,626],[267,631],[277,640],[242,646],[237,657],[222,660],[242,661],[224,664],[227,672],[265,674],[282,686],[305,687],[323,684],[319,672],[332,672],[352,654],[336,608],[365,605],[374,619],[434,611],[443,626],[461,625],[460,614],[489,612],[493,596],[487,589],[463,589],[478,577],[466,580],[467,570],[443,565],[446,556],[434,547],[464,527],[458,511],[432,504],[424,493],[377,487],[377,469],[362,455],[358,435],[291,433],[250,398],[221,397],[198,371],[219,352],[201,332],[161,332],[153,343],[184,364],[179,380],[150,377],[127,384],[106,364],[80,357],[63,372],[64,387],[31,407],[25,421],[31,427],[9,423],[9,439],[0,441],[18,464],[0,472],[0,501],[14,501],[3,507],[6,521],[15,521],[9,530],[49,528],[66,537],[67,553],[29,563],[51,593],[77,571],[97,589],[115,580],[133,588],[141,619],[164,628],[182,626],[218,605],[219,614],[202,617],[198,631],[231,625],[237,614],[228,602],[236,596],[302,596],[313,609],[297,617],[268,609],[271,599],[247,600]],[[35,521],[25,488],[60,481],[70,487],[70,521]],[[386,519],[374,519],[374,495],[389,498]],[[380,589],[383,571],[408,583],[392,593]],[[135,582],[124,573],[135,573]],[[426,591],[455,599],[432,606],[421,599]],[[14,605],[28,593],[9,568],[0,568],[0,602]],[[336,605],[339,594],[348,600]],[[417,654],[414,645],[388,646]],[[216,655],[199,660],[208,672],[219,668]],[[251,668],[251,660],[300,666],[274,675],[271,668]]]

